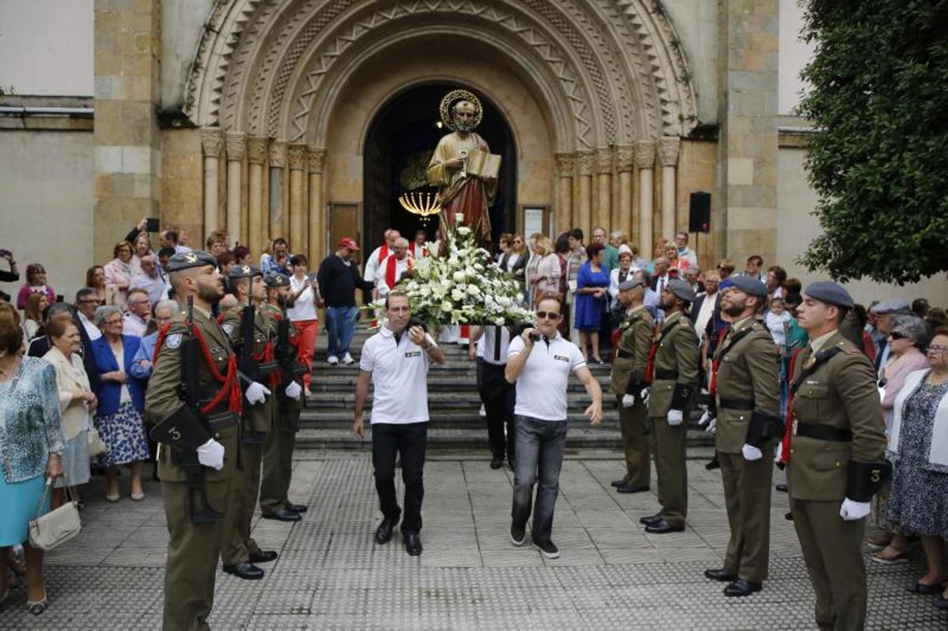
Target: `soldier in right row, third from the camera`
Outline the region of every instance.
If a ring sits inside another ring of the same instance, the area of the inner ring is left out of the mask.
[[[698,335],[685,315],[695,299],[695,292],[688,283],[669,280],[660,299],[665,320],[653,342],[651,386],[642,394],[648,401],[650,446],[658,473],[662,510],[640,521],[645,524],[646,532],[664,534],[684,531],[688,511],[684,421],[691,414],[698,388]]]

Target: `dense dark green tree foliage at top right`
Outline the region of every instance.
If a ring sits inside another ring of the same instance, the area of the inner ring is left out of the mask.
[[[948,0],[804,2],[823,233],[800,261],[900,284],[948,270]]]

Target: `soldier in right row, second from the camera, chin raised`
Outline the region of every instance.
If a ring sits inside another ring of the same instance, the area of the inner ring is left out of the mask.
[[[709,412],[717,439],[724,503],[731,540],[724,567],[705,570],[714,581],[727,581],[725,596],[760,591],[770,554],[773,454],[783,435],[780,422],[779,355],[774,338],[757,321],[767,302],[767,285],[738,276],[720,300],[733,322],[714,355],[714,402]]]

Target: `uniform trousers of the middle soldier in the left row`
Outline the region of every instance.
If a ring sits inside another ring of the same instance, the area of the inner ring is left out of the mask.
[[[251,554],[260,550],[257,542],[250,536],[250,522],[257,506],[257,497],[260,496],[264,444],[241,442],[240,458],[243,469],[238,469],[234,476],[226,517],[227,525],[224,529],[224,547],[221,550],[221,559],[228,566],[246,563]]]

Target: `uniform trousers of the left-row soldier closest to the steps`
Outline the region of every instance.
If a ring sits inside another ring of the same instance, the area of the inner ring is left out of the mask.
[[[300,403],[281,396],[273,428],[266,436],[264,463],[260,480],[260,511],[273,514],[286,506],[293,477],[293,448],[296,445]]]

